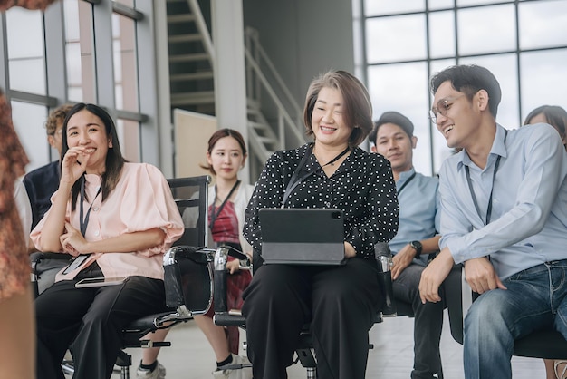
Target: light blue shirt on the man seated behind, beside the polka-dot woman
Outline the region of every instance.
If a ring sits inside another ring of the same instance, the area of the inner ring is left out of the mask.
[[[414,173],[416,175],[410,179]],[[408,184],[404,186],[406,182]],[[413,168],[399,174],[399,180],[396,182],[399,227],[396,237],[389,241],[392,254],[396,254],[413,240],[427,239],[437,234],[441,217],[438,187],[437,178],[422,175]],[[424,255],[413,261],[425,266],[427,259],[428,255]]]

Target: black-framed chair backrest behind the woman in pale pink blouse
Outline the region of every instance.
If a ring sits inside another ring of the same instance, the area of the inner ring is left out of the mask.
[[[173,199],[185,224],[183,236],[174,246],[207,246],[208,240],[208,175],[168,179]]]

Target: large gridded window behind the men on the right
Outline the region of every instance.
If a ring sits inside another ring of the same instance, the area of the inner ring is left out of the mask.
[[[428,80],[449,65],[495,73],[503,90],[496,121],[508,129],[539,105],[567,109],[567,0],[359,1],[375,118],[398,111],[414,122],[416,170],[435,174],[451,153],[428,121]]]

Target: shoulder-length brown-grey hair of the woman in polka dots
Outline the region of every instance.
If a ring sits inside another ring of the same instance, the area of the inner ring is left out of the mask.
[[[341,70],[323,73],[310,84],[303,108],[303,122],[307,135],[313,135],[312,113],[322,88],[333,88],[341,92],[344,121],[352,128],[349,145],[351,147],[360,145],[373,126],[370,96],[364,84],[351,73]]]

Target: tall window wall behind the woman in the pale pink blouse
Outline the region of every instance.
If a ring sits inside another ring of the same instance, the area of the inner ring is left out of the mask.
[[[158,86],[155,75],[145,75],[142,83],[139,75],[156,71],[156,6],[152,0],[61,0],[44,12],[14,7],[0,14],[0,42],[6,46],[0,59],[7,63],[0,86],[31,160],[26,170],[58,159],[43,124],[49,111],[66,102],[101,105],[116,121],[126,159],[159,166]]]

